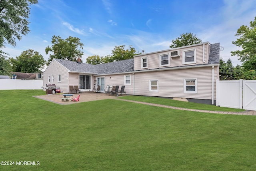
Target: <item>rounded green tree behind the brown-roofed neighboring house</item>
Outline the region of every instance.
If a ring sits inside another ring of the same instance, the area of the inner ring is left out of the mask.
[[[34,73],[44,68],[46,61],[38,52],[28,49],[16,59],[10,58],[13,72],[29,72]]]

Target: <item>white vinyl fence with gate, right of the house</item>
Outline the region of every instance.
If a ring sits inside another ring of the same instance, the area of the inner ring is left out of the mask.
[[[216,80],[216,105],[256,110],[256,80]]]

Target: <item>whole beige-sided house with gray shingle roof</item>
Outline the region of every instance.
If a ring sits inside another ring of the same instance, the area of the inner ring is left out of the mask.
[[[64,93],[69,92],[69,85],[92,90],[96,82],[101,92],[107,85],[125,85],[130,95],[203,99],[214,104],[219,50],[219,43],[203,42],[99,65],[53,59],[43,80],[44,85],[56,84]]]

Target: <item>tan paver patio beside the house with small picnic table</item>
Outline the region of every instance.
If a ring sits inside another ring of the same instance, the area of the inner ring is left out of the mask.
[[[53,103],[57,103],[60,105],[70,105],[70,104],[81,103],[81,102],[85,102],[85,101],[114,99],[114,98],[119,97],[116,95],[109,95],[109,94],[106,95],[106,93],[94,93],[93,91],[86,91],[86,92],[82,92],[82,93],[73,93],[73,94],[74,94],[73,95],[74,98],[77,97],[78,94],[80,94],[79,101],[61,101],[61,98],[63,96],[62,94],[37,95],[34,97],[43,99],[43,100],[47,100],[47,101],[51,101]]]

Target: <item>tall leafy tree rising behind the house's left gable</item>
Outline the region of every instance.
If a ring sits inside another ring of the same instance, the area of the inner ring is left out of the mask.
[[[69,36],[66,39],[62,39],[60,36],[53,36],[52,44],[52,47],[47,46],[45,49],[46,55],[49,52],[53,52],[53,54],[50,54],[50,58],[48,58],[47,65],[50,64],[53,58],[76,61],[76,58],[84,54],[80,50],[83,49],[84,44],[76,37]]]

